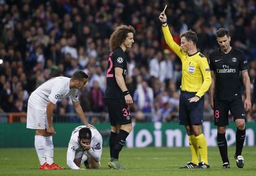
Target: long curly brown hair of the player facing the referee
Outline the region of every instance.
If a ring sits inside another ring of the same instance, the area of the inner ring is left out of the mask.
[[[130,32],[135,34],[134,27],[130,25],[129,26],[121,25],[117,27],[112,33],[112,35],[110,36],[110,40],[109,40],[110,51],[113,51],[118,46],[120,46],[124,42],[124,40],[126,40],[127,34]]]

